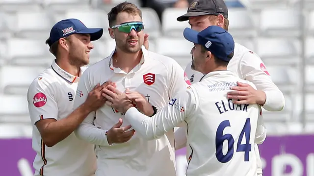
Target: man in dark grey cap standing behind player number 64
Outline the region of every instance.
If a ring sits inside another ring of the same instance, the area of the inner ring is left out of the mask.
[[[210,25],[218,25],[228,30],[228,8],[224,0],[194,0],[190,3],[187,13],[178,17],[178,21],[188,21],[191,28],[201,31]],[[192,49],[191,52],[193,52]],[[193,59],[193,58],[192,58]],[[255,84],[257,90],[249,84],[238,83],[233,87],[233,92],[228,93],[228,98],[233,99],[235,104],[257,103],[268,111],[281,111],[285,106],[283,93],[271,80],[261,58],[251,50],[235,43],[235,55],[228,64],[228,70],[236,73],[240,78],[249,80]],[[191,83],[198,82],[202,73],[194,70],[193,61],[187,65],[185,72]],[[179,128],[175,132],[175,138],[184,138],[184,129]],[[184,140],[176,143],[176,149],[185,146]],[[257,144],[255,151],[258,159],[258,174],[262,175],[262,164]]]

